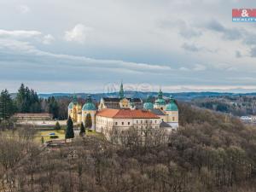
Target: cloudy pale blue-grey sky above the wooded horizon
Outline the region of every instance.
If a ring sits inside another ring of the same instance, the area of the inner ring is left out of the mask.
[[[0,90],[256,92],[253,0],[0,0]]]

